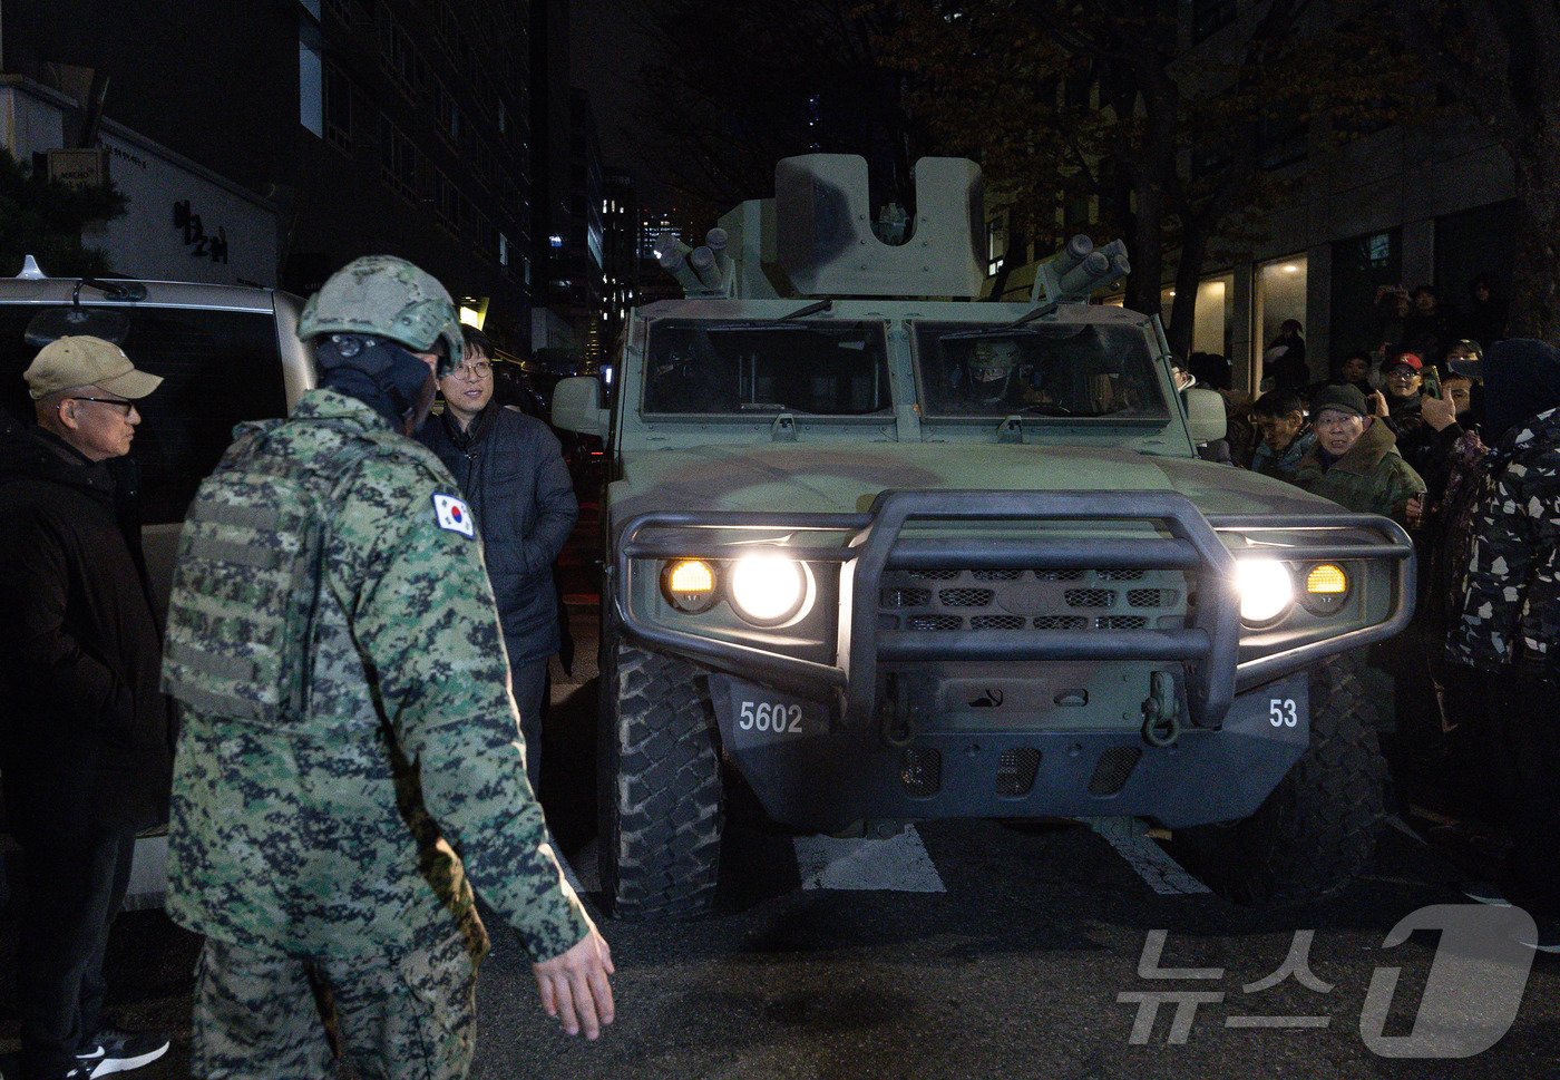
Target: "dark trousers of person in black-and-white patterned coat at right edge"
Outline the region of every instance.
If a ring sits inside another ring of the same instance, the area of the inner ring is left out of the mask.
[[[1560,682],[1516,676],[1502,710],[1516,785],[1505,897],[1532,915],[1560,915]]]

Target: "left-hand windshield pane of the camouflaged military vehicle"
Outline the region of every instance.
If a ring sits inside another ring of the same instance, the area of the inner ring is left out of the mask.
[[[651,326],[646,412],[861,417],[891,407],[881,323]]]

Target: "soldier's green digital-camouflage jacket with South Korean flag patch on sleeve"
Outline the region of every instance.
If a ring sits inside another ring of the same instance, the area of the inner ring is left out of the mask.
[[[251,596],[259,570],[245,573],[276,545],[262,510],[222,504],[212,479],[184,528],[165,679],[197,690],[181,693],[168,915],[289,955],[393,958],[452,935],[479,954],[476,885],[534,958],[563,952],[590,922],[526,783],[493,590],[454,479],[332,390],[310,390],[285,421],[246,425],[225,459],[259,484],[298,464],[334,484],[321,587],[304,593],[314,609],[298,640],[312,638],[303,715],[246,709],[262,684],[222,680],[243,657],[211,659],[250,634],[245,602],[256,620],[281,602]],[[201,538],[223,529],[251,538],[207,542],[232,556],[203,568]]]

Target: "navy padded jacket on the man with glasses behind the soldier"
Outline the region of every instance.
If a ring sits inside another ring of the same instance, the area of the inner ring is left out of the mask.
[[[417,437],[445,462],[476,515],[510,662],[552,655],[560,643],[552,562],[580,512],[557,437],[496,403],[466,431],[446,410]]]

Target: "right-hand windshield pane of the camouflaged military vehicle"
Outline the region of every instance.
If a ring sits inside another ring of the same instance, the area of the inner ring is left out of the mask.
[[[928,415],[1170,415],[1136,326],[919,323],[916,362]]]

